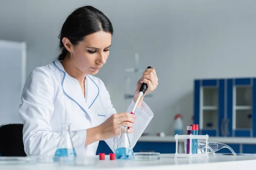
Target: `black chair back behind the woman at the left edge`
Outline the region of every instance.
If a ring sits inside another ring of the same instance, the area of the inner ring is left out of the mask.
[[[23,124],[0,126],[0,156],[26,156],[23,145]]]

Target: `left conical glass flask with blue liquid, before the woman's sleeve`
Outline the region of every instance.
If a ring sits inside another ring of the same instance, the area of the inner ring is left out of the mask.
[[[61,138],[58,142],[55,157],[76,157],[76,150],[70,136],[70,124],[61,124],[61,126]]]

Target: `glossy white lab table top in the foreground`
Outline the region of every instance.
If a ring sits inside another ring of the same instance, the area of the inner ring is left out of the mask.
[[[98,158],[98,156],[97,156]],[[256,164],[256,156],[224,156],[217,154],[209,155],[209,158],[174,158],[174,154],[162,154],[158,161],[135,161],[135,160],[109,160],[105,156],[104,161],[98,161],[94,167],[86,166],[60,166],[58,163],[40,163],[40,164],[0,164],[0,170],[181,170],[188,168],[206,168],[207,170],[244,170],[253,169]]]

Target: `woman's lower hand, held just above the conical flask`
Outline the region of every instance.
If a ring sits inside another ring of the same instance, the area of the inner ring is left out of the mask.
[[[105,122],[98,126],[101,140],[110,139],[120,134],[120,125],[128,125],[133,127],[136,117],[131,113],[115,113],[112,114]],[[128,133],[134,132],[129,129]]]

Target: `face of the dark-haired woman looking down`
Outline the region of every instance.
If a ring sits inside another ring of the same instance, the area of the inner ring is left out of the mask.
[[[99,31],[84,37],[70,54],[71,62],[82,73],[94,75],[108,59],[111,33]]]

